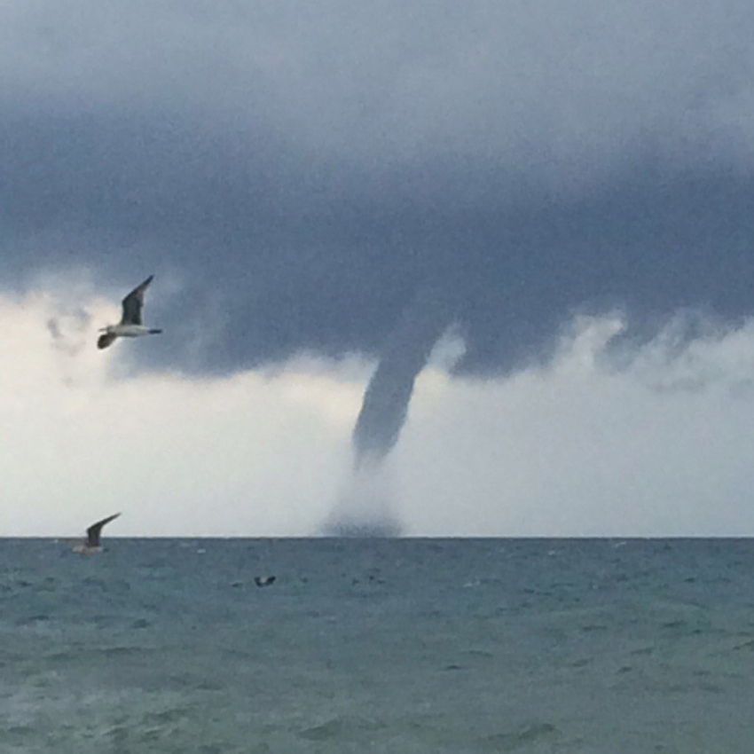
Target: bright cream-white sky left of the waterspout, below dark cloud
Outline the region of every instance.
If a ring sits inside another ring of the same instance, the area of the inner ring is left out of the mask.
[[[49,295],[0,301],[1,535],[73,534],[114,511],[114,534],[315,528],[347,458],[357,385],[305,359],[275,377],[115,379],[129,350],[160,342],[98,352],[96,328],[117,309],[87,310],[82,326]]]

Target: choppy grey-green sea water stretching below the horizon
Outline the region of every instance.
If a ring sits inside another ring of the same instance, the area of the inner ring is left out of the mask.
[[[754,751],[754,540],[106,546],[0,540],[0,752]]]

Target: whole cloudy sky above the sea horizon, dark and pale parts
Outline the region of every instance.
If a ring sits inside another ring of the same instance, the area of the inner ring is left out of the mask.
[[[0,535],[754,534],[750,4],[0,20]]]

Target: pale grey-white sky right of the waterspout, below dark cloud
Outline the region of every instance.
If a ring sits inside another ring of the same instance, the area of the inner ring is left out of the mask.
[[[427,534],[754,533],[754,323],[687,344],[670,326],[618,369],[607,346],[622,327],[577,319],[551,365],[505,381],[426,375],[397,460],[407,520]]]

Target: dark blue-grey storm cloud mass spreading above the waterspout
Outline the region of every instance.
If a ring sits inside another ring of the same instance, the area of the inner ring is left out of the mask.
[[[536,355],[573,310],[751,310],[748,4],[30,2],[4,21],[5,279],[84,265],[119,296],[155,272],[162,364],[377,352],[425,286],[474,369]]]

